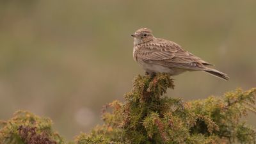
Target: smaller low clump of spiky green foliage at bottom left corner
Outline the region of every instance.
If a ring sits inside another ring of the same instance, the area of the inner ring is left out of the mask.
[[[61,144],[63,139],[52,131],[49,118],[17,111],[13,118],[0,122],[0,144]]]

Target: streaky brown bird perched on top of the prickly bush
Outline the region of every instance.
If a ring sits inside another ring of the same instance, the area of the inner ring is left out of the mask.
[[[229,79],[227,74],[210,68],[213,66],[211,63],[186,51],[179,44],[154,37],[151,29],[140,28],[131,36],[134,38],[133,58],[146,74],[168,73],[176,76],[186,71],[204,71],[224,80]]]

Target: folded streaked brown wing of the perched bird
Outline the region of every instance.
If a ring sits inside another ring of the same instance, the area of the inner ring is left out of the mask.
[[[141,45],[138,58],[148,63],[163,65],[164,67],[185,68],[189,70],[203,70],[204,65],[211,65],[188,51],[185,51],[175,42],[164,39],[154,40]]]

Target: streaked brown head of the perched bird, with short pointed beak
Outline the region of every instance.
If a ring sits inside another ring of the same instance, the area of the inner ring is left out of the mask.
[[[134,45],[141,44],[143,42],[148,42],[154,39],[152,31],[148,28],[138,29],[131,36],[134,37]]]

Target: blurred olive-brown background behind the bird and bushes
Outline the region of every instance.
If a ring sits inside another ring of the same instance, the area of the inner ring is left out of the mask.
[[[256,1],[0,1],[0,120],[18,109],[50,117],[72,139],[143,70],[131,34],[150,28],[230,76],[175,77],[170,97],[185,100],[256,86]],[[256,126],[255,115],[246,120]],[[254,121],[253,121],[254,119]]]

